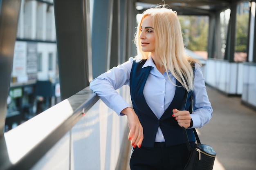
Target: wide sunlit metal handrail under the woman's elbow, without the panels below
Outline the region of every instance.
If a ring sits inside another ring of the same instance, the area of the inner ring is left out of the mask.
[[[98,100],[88,86],[4,133],[0,170],[30,169]]]

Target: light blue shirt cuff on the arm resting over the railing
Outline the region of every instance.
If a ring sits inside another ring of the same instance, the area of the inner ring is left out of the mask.
[[[121,113],[121,111],[128,107],[130,107],[130,105],[120,95],[117,95],[111,99],[110,108],[119,116],[123,116],[124,114]]]

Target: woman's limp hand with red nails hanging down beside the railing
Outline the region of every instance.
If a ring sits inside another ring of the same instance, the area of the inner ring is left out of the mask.
[[[130,129],[128,139],[131,141],[131,145],[134,148],[136,146],[140,148],[143,141],[143,128],[140,124],[138,116],[136,115],[135,111],[130,107],[122,110],[122,113],[124,113],[128,119],[128,126]]]

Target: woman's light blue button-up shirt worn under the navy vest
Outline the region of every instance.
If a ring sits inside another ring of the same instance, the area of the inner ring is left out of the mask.
[[[101,100],[108,107],[115,110],[118,115],[123,115],[121,111],[130,107],[130,105],[115,90],[121,88],[123,85],[129,85],[133,60],[134,58],[130,57],[124,64],[113,67],[108,72],[93,79],[90,83],[90,89],[94,91],[94,93],[97,93]],[[173,100],[176,89],[176,79],[171,72],[168,72],[171,81],[166,72],[164,72],[164,74],[160,73],[151,57],[149,57],[143,65],[143,67],[146,66],[151,66],[153,68],[150,69],[143,94],[150,109],[156,117],[160,119],[164,110],[168,108]],[[190,116],[193,120],[193,127],[191,128],[201,128],[211,119],[213,109],[208,99],[202,70],[198,64],[195,65],[192,99],[193,112]],[[158,128],[155,141],[165,141],[160,128]]]

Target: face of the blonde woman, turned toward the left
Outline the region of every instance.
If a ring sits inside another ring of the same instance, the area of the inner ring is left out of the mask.
[[[155,54],[155,33],[152,23],[152,16],[146,16],[140,27],[140,45],[144,52],[151,52],[151,55]]]

